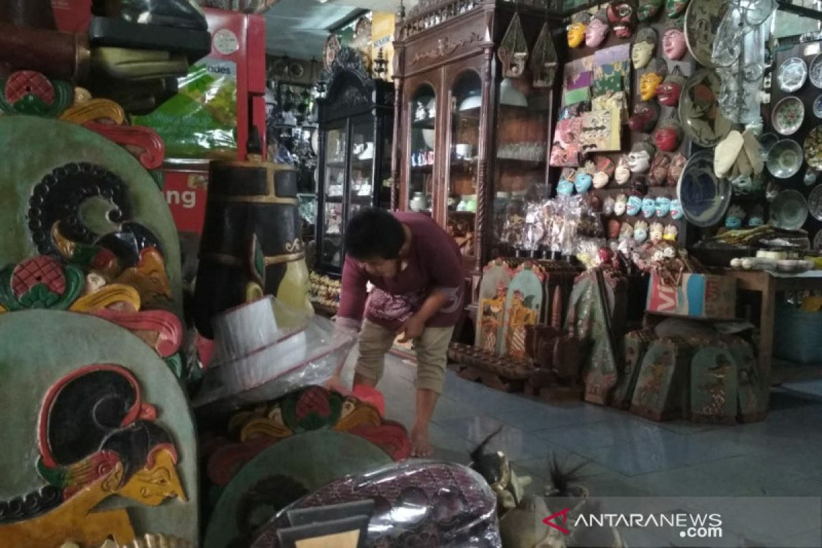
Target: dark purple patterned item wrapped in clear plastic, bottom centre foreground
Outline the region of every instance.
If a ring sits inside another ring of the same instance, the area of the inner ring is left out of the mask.
[[[261,527],[252,548],[279,548],[290,509],[374,500],[366,545],[501,547],[496,496],[478,472],[456,463],[413,460],[341,477],[290,504]]]

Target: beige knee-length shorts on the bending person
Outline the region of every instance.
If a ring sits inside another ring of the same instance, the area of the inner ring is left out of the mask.
[[[451,327],[427,327],[423,334],[414,339],[417,352],[417,388],[428,389],[440,394],[445,382],[448,362],[448,344],[451,341]],[[394,345],[397,334],[390,329],[363,320],[360,329],[359,357],[357,372],[367,379],[378,381],[386,367],[386,353]]]

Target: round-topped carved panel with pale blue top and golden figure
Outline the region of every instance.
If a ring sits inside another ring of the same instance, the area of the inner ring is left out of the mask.
[[[508,286],[501,353],[525,357],[525,335],[539,321],[543,308],[543,271],[532,263],[520,265]]]

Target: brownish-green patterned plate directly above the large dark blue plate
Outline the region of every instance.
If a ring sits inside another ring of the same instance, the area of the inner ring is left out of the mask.
[[[679,119],[682,127],[695,145],[706,149],[718,145],[732,127],[717,104],[720,86],[717,73],[703,68],[688,79],[680,92]]]

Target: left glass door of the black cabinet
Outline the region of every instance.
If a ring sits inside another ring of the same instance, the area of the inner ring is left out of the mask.
[[[340,267],[343,260],[343,197],[345,192],[345,154],[348,146],[345,122],[326,130],[324,165],[324,211],[320,256],[327,265]]]

